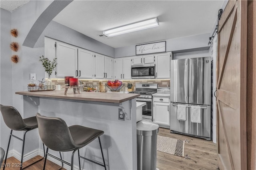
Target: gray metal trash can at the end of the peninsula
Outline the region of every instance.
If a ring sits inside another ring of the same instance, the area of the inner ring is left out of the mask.
[[[152,121],[137,123],[137,168],[156,170],[156,147],[159,126]]]

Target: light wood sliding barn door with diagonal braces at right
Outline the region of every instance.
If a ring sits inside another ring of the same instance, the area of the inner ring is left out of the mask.
[[[221,170],[246,170],[247,1],[230,0],[218,27],[217,144]]]

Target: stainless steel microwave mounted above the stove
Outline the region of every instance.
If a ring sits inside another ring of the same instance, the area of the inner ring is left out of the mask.
[[[132,66],[132,78],[155,78],[155,64]]]

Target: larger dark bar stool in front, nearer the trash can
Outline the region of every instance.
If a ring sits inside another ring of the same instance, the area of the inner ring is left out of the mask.
[[[78,162],[79,169],[81,170],[80,158],[103,166],[106,170],[106,164],[104,160],[104,155],[102,151],[102,146],[100,142],[100,135],[104,133],[104,131],[100,131],[97,129],[92,129],[80,125],[72,125],[70,127],[67,126],[66,122],[58,117],[46,117],[42,116],[39,113],[36,113],[36,119],[38,122],[38,131],[39,136],[43,143],[46,145],[46,156],[44,160],[44,169],[46,166],[47,156],[51,156],[65,164],[71,166],[71,170],[73,170],[74,166],[74,153],[78,150]],[[88,145],[94,139],[98,138],[100,143],[100,150],[102,154],[102,159],[104,164],[100,164],[88,158],[84,158],[80,156],[79,149]],[[71,156],[71,164],[62,159],[57,158],[56,156],[49,154],[48,149],[52,149],[59,152],[67,152],[73,151]],[[44,170],[43,169],[43,170]]]

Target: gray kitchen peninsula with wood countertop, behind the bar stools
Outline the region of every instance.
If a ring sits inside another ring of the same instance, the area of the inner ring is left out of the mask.
[[[16,94],[23,95],[24,117],[33,116],[38,112],[49,117],[60,117],[68,126],[83,125],[104,131],[101,142],[107,169],[137,169],[136,97],[140,94],[96,92],[78,94],[68,91],[65,95],[63,90],[16,92]],[[118,120],[120,108],[127,113],[125,121]],[[38,143],[38,148],[42,150],[39,136]],[[58,156],[58,152],[51,152]],[[64,159],[70,162],[72,153],[63,154]],[[102,162],[98,141],[82,148],[80,154],[96,162]],[[81,161],[84,161],[81,162],[83,169],[104,169],[86,160],[81,159]],[[76,157],[74,165],[78,168]]]

